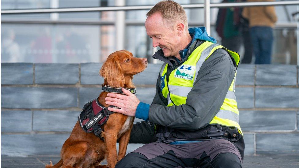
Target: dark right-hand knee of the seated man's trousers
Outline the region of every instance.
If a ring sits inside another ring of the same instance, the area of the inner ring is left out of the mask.
[[[232,152],[219,153],[211,162],[215,168],[240,168],[242,167],[239,157]]]

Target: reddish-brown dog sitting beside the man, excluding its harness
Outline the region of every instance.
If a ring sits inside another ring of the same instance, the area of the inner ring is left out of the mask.
[[[133,75],[142,72],[146,66],[146,58],[134,58],[129,51],[120,50],[109,55],[100,70],[100,75],[104,77],[104,85],[134,88]],[[103,91],[98,100],[103,106],[108,107],[105,97],[107,92]],[[133,121],[134,117],[120,113],[110,114],[108,121],[101,126],[103,129],[101,135],[105,141],[93,133],[84,132],[77,121],[70,137],[62,146],[60,161],[54,166],[50,163],[46,168],[106,167],[99,165],[105,158],[108,162],[107,167],[115,167],[115,164],[126,155]],[[119,140],[118,155],[116,140]]]

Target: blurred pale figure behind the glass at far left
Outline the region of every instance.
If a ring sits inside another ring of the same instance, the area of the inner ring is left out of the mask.
[[[20,47],[14,41],[15,33],[13,30],[7,30],[2,34],[1,39],[1,62],[21,62]]]

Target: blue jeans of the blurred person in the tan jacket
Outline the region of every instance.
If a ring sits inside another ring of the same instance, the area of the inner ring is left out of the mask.
[[[255,26],[250,29],[255,64],[270,64],[273,43],[271,27]]]

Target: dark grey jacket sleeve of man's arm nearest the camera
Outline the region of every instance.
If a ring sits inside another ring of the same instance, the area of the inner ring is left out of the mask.
[[[224,50],[216,50],[199,69],[186,104],[152,104],[149,121],[175,129],[196,130],[205,127],[220,110],[235,76],[236,66]]]

